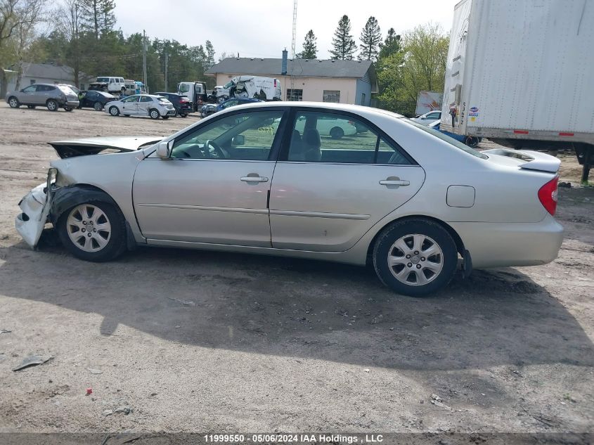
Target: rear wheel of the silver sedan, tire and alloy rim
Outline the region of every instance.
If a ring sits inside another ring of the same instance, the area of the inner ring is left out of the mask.
[[[436,253],[423,256],[429,250]],[[422,297],[448,285],[456,273],[458,250],[448,231],[438,223],[404,219],[387,226],[377,237],[373,266],[388,288]]]

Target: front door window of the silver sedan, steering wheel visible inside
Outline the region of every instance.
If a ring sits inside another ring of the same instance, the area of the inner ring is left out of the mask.
[[[283,111],[250,111],[222,117],[177,138],[172,157],[268,160]]]

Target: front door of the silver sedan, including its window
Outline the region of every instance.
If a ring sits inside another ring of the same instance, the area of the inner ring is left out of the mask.
[[[226,113],[177,137],[169,159],[134,174],[134,209],[149,243],[271,247],[268,196],[283,108]]]

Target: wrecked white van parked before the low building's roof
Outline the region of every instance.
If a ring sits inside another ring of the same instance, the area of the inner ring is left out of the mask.
[[[218,103],[223,103],[232,97],[280,101],[282,94],[278,79],[256,76],[233,77],[225,86],[215,86],[214,92]]]

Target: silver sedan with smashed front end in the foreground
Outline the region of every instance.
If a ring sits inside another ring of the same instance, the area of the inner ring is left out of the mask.
[[[365,131],[325,136],[328,120]],[[458,267],[545,264],[562,242],[557,158],[479,153],[374,108],[257,103],[162,141],[52,145],[64,159],[20,202],[17,229],[34,247],[50,222],[94,262],[136,245],[273,254],[373,264],[389,288],[427,295]]]

